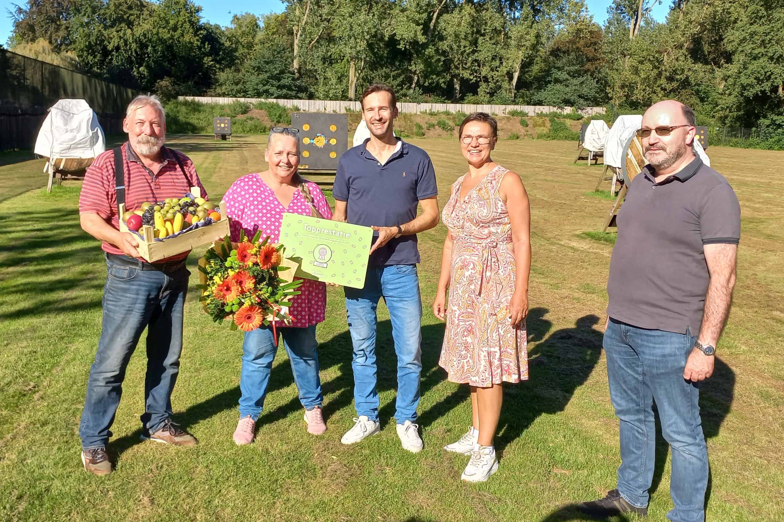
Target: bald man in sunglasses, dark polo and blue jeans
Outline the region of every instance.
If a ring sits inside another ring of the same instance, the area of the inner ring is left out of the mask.
[[[618,484],[579,510],[648,514],[655,457],[652,402],[672,448],[673,522],[705,520],[708,452],[699,383],[730,311],[740,205],[727,179],[695,156],[694,112],[673,100],[645,112],[648,165],[618,214],[604,332],[610,398],[620,420]]]

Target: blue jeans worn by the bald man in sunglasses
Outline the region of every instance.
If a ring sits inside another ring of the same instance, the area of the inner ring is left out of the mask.
[[[655,458],[655,401],[662,434],[672,449],[670,496],[674,522],[705,520],[708,450],[699,417],[699,388],[684,379],[696,337],[646,330],[610,318],[604,332],[610,398],[620,421],[618,491],[633,506],[648,506]]]

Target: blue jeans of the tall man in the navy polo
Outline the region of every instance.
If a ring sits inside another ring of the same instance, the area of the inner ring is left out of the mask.
[[[354,407],[357,415],[379,419],[376,392],[376,307],[384,298],[392,322],[397,354],[398,424],[416,420],[419,376],[422,374],[422,298],[416,265],[369,266],[365,288],[345,287],[348,329],[354,345]]]

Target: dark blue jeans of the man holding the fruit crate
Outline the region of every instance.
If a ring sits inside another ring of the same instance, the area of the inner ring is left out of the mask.
[[[147,373],[141,422],[154,433],[172,416],[171,397],[180,371],[183,303],[190,274],[184,264],[175,272],[164,273],[107,259],[100,340],[79,423],[83,449],[106,447],[122,396],[125,368],[144,328]]]

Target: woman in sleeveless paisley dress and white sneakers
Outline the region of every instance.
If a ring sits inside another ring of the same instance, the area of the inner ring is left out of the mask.
[[[528,379],[531,212],[520,176],[490,157],[498,141],[495,118],[470,114],[459,140],[468,172],[452,185],[442,213],[449,231],[433,313],[446,320],[438,364],[450,381],[471,388],[473,422],[445,450],[471,455],[462,478],[481,482],[498,469],[493,437],[502,382]]]

